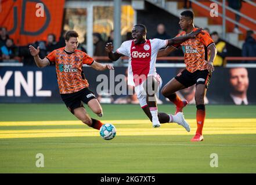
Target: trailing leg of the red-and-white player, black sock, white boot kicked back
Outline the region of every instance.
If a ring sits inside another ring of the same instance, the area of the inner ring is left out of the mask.
[[[142,108],[147,117],[149,117],[150,121],[152,121],[152,114],[149,110],[149,106],[146,106]],[[163,123],[178,123],[179,125],[182,125],[186,129],[186,131],[190,131],[190,126],[188,122],[184,119],[184,116],[182,113],[178,113],[176,115],[167,114],[164,112],[158,112],[158,120],[161,124]]]

